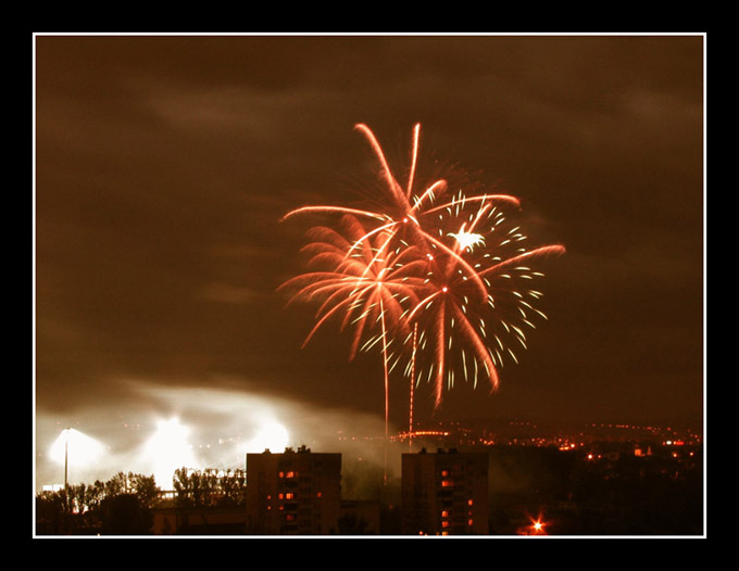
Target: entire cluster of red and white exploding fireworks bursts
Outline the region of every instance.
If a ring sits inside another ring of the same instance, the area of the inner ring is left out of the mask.
[[[363,347],[383,342],[387,427],[391,332],[404,335],[401,345],[408,345],[413,326],[417,334],[413,334],[410,351],[411,383],[416,384],[426,373],[425,361],[426,375],[435,383],[436,406],[442,399],[444,376],[451,388],[460,363],[465,379],[472,377],[476,385],[483,373],[494,390],[503,357],[517,360],[503,340],[514,339],[526,348],[524,327],[535,327],[535,315],[546,318],[534,307],[541,293],[519,287],[523,280],[542,274],[522,264],[563,253],[564,248],[527,251],[522,246],[526,237],[517,227],[505,231],[501,208],[518,208],[521,202],[515,196],[467,196],[460,191],[449,199],[449,183],[443,178],[419,185],[422,190],[416,193],[419,125],[413,131],[404,189],[372,130],[364,124],[355,129],[368,141],[379,164],[380,210],[314,205],[288,212],[283,219],[299,214],[342,215],[346,236],[331,228],[314,228],[318,239],[304,250],[313,253],[312,263],[327,269],[293,278],[285,287],[298,287],[292,301],[322,302],[305,343],[328,320],[342,316],[341,330],[355,326],[353,358],[360,340],[379,323],[380,333]]]

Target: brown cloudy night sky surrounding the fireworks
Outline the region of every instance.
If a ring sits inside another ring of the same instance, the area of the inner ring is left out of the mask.
[[[501,388],[458,382],[417,420],[690,421],[704,407],[704,37],[37,36],[35,423],[38,473],[67,426],[118,458],[156,418],[192,437],[291,444],[381,432],[381,360],[348,361],[308,306],[318,218],[376,166],[421,154],[521,199],[540,307]],[[391,421],[408,426],[408,386]],[[317,437],[317,436],[316,436]],[[239,460],[240,461],[240,460]],[[115,471],[134,469],[120,466]],[[49,479],[46,474],[40,478]],[[46,480],[45,480],[46,481]]]

